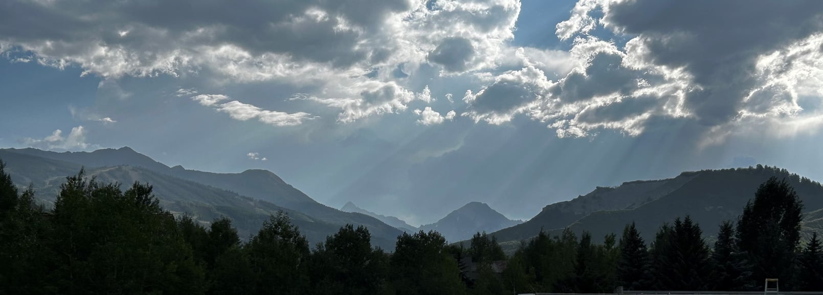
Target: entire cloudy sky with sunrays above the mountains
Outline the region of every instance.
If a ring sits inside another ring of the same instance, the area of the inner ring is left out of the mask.
[[[705,168],[821,181],[821,79],[821,1],[0,2],[0,147],[263,168],[413,225]]]

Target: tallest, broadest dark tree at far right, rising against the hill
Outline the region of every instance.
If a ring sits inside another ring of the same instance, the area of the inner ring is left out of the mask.
[[[780,279],[793,286],[795,250],[800,242],[802,203],[785,180],[770,177],[758,187],[737,221],[737,247],[751,263],[752,286],[765,279]]]

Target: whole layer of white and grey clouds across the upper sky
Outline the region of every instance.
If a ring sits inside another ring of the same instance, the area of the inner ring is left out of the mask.
[[[292,99],[316,103],[302,107],[333,108],[340,123],[405,112],[414,101],[434,102],[432,92],[453,91],[430,89],[438,77],[423,76],[431,71],[421,65],[475,83],[461,116],[491,124],[528,116],[559,136],[603,128],[635,136],[655,119],[714,127],[823,113],[809,107],[823,95],[823,2],[755,2],[742,9],[732,2],[581,0],[555,27],[557,38],[571,43],[565,51],[510,43],[518,0],[209,7],[194,0],[98,1],[18,4],[21,11],[53,16],[46,19],[0,12],[0,54],[49,67],[77,65],[105,81],[159,75],[217,84],[275,81],[309,89]],[[164,21],[153,16],[158,11],[176,17]],[[627,41],[619,46],[612,39]],[[12,57],[12,51],[26,56]],[[298,125],[317,113],[267,111],[193,89],[174,95],[276,126]],[[453,103],[452,94],[445,98]]]

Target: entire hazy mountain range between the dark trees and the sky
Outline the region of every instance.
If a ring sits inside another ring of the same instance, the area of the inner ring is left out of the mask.
[[[0,149],[6,171],[20,187],[31,184],[44,205],[53,204],[59,186],[69,175],[85,168],[100,182],[148,182],[160,204],[174,214],[190,214],[203,224],[226,216],[241,236],[256,233],[263,220],[277,211],[291,216],[309,242],[322,242],[344,224],[364,225],[375,246],[391,251],[402,232],[436,230],[449,241],[461,241],[486,231],[509,247],[534,237],[541,230],[551,235],[564,228],[592,233],[601,242],[609,233],[620,234],[634,222],[649,242],[658,228],[677,217],[690,215],[712,239],[724,220],[735,220],[760,183],[769,177],[787,180],[803,202],[804,233],[823,230],[823,186],[786,169],[769,166],[684,172],[677,177],[623,182],[616,187],[596,187],[584,196],[546,205],[526,222],[510,220],[488,205],[471,202],[439,219],[416,228],[402,219],[363,210],[346,203],[337,210],[292,187],[267,170],[209,173],[181,166],[169,167],[123,147],[93,152],[52,152],[36,149]]]

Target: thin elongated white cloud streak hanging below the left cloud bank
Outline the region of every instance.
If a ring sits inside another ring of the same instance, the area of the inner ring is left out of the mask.
[[[213,107],[218,112],[228,113],[230,118],[239,121],[247,121],[249,119],[257,118],[260,122],[273,126],[284,127],[300,125],[304,120],[313,118],[309,113],[269,111],[263,108],[258,108],[252,104],[241,103],[237,100],[220,104],[221,101],[230,99],[229,96],[223,94],[199,94],[193,96],[191,99],[204,106]]]

